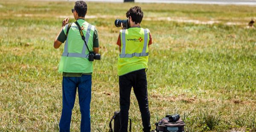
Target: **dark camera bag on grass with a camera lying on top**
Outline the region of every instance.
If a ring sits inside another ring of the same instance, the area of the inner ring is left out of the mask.
[[[157,132],[184,132],[185,123],[182,119],[176,122],[169,122],[169,118],[163,118],[156,124]]]

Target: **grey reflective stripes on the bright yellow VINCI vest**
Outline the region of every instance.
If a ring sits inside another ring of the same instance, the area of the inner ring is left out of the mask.
[[[125,54],[125,30],[122,30],[122,53],[119,55],[120,58],[131,58],[131,57],[141,57],[141,56],[148,56],[148,52],[146,53],[147,49],[147,43],[148,43],[148,30],[144,29],[144,45],[143,45],[143,50],[141,53],[132,53],[132,54]]]

